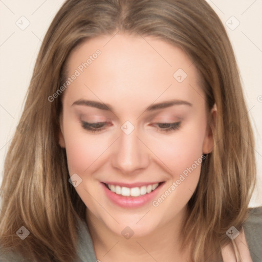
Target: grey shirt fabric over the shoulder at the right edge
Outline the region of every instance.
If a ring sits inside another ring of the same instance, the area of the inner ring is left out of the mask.
[[[262,206],[249,209],[244,232],[253,262],[262,261]]]

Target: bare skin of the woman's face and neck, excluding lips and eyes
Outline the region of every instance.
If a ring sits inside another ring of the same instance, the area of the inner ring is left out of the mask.
[[[158,199],[186,168],[211,152],[213,136],[197,69],[184,52],[162,40],[117,34],[82,43],[69,57],[68,75],[98,49],[101,54],[64,91],[59,140],[70,175],[82,179],[75,189],[88,207],[86,221],[97,259],[190,261],[178,236],[201,165],[157,207],[152,202],[119,207],[108,200],[101,182],[163,181]],[[173,77],[178,69],[187,74],[181,82]],[[106,103],[112,110],[74,104],[83,99]],[[145,111],[170,100],[180,104]],[[216,118],[215,107],[209,113]],[[92,133],[81,121],[106,125]],[[129,135],[121,130],[126,121],[135,127]],[[178,128],[168,132],[158,125],[174,122],[180,123]],[[121,234],[127,226],[134,231],[130,239]]]

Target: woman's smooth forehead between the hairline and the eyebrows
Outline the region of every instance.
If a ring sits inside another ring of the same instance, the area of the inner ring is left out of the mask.
[[[202,92],[192,60],[178,47],[151,36],[118,33],[88,39],[70,54],[67,68],[68,77],[78,72],[66,91],[75,99],[80,95],[112,103],[152,103],[172,96],[192,101],[195,91]]]

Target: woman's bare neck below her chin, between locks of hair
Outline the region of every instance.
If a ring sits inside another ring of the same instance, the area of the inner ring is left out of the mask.
[[[86,221],[89,225],[97,259],[101,261],[189,261],[189,250],[180,249],[180,231],[186,208],[148,235],[129,239],[110,230],[101,220],[86,209]]]

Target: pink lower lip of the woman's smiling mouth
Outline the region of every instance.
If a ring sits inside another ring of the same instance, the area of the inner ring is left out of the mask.
[[[110,199],[113,203],[117,204],[120,207],[137,208],[152,201],[156,197],[157,193],[159,192],[160,188],[163,186],[164,183],[161,183],[155,190],[151,191],[150,193],[140,195],[140,197],[124,197],[121,194],[113,193],[110,189],[108,189],[105,186],[104,183],[101,184],[104,188],[107,198]]]

